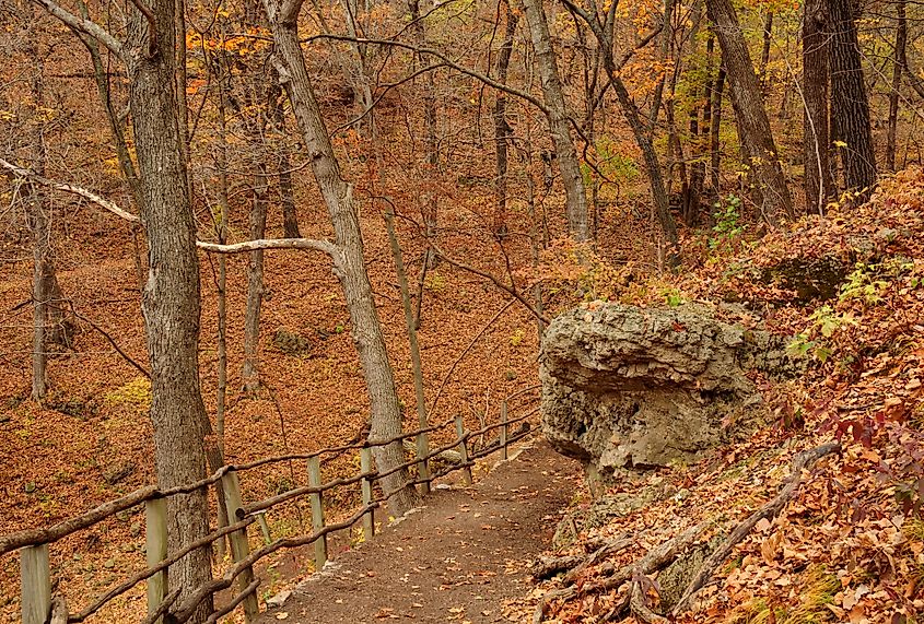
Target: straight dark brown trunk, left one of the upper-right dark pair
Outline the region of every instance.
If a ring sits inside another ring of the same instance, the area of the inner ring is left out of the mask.
[[[803,17],[803,98],[806,214],[823,214],[831,197],[828,163],[828,12],[824,0],[806,0]]]

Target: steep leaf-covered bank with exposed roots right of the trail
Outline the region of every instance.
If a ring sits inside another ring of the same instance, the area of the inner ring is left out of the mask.
[[[755,379],[773,424],[750,439],[575,507],[522,621],[920,622],[922,235],[924,173],[910,169],[864,207],[755,244],[716,236],[726,252],[697,271],[624,289],[794,335],[810,367]]]

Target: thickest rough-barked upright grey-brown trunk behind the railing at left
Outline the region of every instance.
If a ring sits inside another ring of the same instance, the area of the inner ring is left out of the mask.
[[[203,440],[210,425],[199,388],[199,262],[177,118],[174,2],[149,0],[148,7],[154,16],[156,45],[149,45],[149,24],[132,11],[125,58],[141,178],[141,220],[149,243],[141,309],[151,362],[154,463],[159,485],[171,487],[203,475]],[[204,493],[172,497],[168,508],[171,552],[209,532]],[[194,551],[169,568],[169,585],[180,588],[180,600],[210,579],[209,548]],[[211,611],[209,599],[194,621],[204,621]]]

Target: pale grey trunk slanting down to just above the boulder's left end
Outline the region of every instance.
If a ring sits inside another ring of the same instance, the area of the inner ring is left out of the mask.
[[[541,0],[524,0],[524,13],[529,25],[529,36],[536,55],[539,79],[542,84],[542,95],[548,110],[549,129],[555,145],[559,170],[566,198],[568,228],[572,237],[578,243],[590,237],[589,220],[587,217],[587,192],[584,188],[584,177],[577,161],[577,151],[571,138],[568,108],[564,92],[561,86],[558,61],[552,50],[549,24],[546,22],[546,11]]]

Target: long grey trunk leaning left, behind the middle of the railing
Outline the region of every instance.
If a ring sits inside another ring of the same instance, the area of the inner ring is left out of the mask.
[[[401,409],[395,387],[395,376],[372,285],[363,259],[363,240],[352,186],[343,180],[340,165],[320,117],[302,48],[299,45],[297,13],[301,2],[286,2],[285,12],[276,0],[265,0],[276,44],[273,62],[279,79],[289,94],[292,110],[302,130],[312,169],[334,225],[338,257],[335,270],[343,287],[347,308],[353,326],[353,339],[365,376],[372,408],[370,441],[381,441],[401,433]],[[387,471],[403,463],[401,443],[377,446],[373,450],[379,471]],[[398,470],[381,480],[388,496],[393,515],[399,515],[420,502],[407,469]]]

